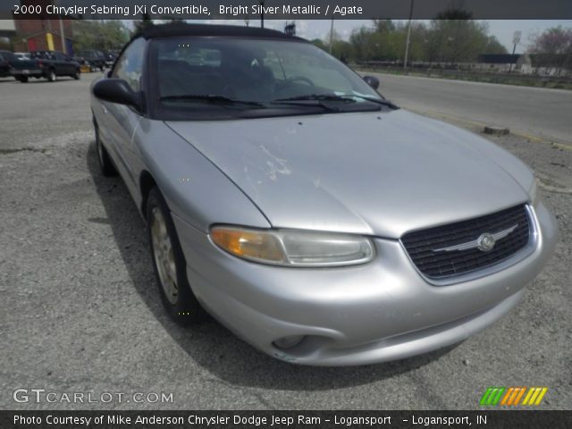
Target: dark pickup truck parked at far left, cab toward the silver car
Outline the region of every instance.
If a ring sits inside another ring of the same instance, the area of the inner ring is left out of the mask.
[[[33,51],[29,60],[13,62],[13,76],[25,83],[29,78],[44,78],[54,82],[58,76],[80,79],[80,63],[58,51]]]

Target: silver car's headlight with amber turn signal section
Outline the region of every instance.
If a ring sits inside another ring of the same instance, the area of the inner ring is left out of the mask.
[[[349,234],[215,226],[211,238],[232,255],[263,264],[356,265],[374,257],[371,240]]]

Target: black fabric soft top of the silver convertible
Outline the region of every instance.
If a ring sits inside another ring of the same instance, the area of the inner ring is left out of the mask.
[[[142,29],[133,38],[168,38],[177,36],[223,36],[241,38],[281,38],[298,42],[307,42],[303,38],[288,36],[274,29],[259,29],[239,25],[215,25],[215,24],[186,24],[175,22],[170,24],[152,25]]]

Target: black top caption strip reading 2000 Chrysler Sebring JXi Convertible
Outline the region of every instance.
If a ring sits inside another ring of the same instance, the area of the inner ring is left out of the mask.
[[[0,19],[572,19],[570,0],[4,0]]]

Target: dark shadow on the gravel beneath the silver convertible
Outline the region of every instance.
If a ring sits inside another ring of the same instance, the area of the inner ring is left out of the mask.
[[[198,365],[223,383],[273,390],[320,391],[373,383],[425,366],[457,346],[420,357],[395,362],[351,367],[315,367],[288,364],[254,349],[212,318],[203,324],[181,327],[165,314],[156,287],[145,224],[119,177],[106,178],[99,172],[97,151],[92,141],[88,148],[88,171],[105,207],[122,262],[140,298],[166,332]],[[152,339],[149,339],[152,341]],[[179,362],[177,365],[180,365]]]

